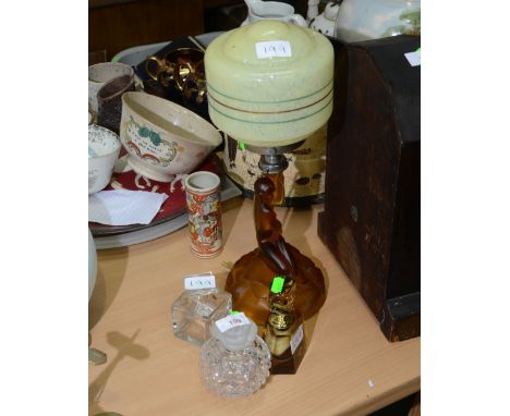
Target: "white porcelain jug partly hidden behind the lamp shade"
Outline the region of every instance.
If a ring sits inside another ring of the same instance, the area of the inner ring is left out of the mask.
[[[307,26],[301,14],[294,13],[291,4],[281,1],[245,0],[248,8],[246,20],[241,24],[245,26],[264,20],[276,20],[292,23],[298,26]]]

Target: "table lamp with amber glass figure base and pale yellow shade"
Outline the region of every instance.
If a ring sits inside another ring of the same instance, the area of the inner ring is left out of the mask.
[[[254,220],[258,247],[232,267],[232,306],[258,326],[269,313],[272,278],[292,276],[295,307],[309,318],[326,298],[324,277],[281,235],[274,206],[283,200],[283,154],[326,124],[332,111],[333,49],[321,34],[265,20],[217,37],[205,53],[209,117],[217,127],[260,155]]]

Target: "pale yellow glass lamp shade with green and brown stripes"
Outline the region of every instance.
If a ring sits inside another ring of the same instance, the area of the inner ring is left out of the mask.
[[[256,22],[217,37],[204,62],[210,119],[246,145],[293,145],[331,115],[333,49],[313,29]]]

